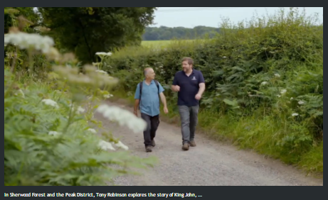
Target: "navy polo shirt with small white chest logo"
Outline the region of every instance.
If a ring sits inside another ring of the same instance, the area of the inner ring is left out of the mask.
[[[178,106],[198,106],[199,100],[195,99],[199,92],[199,84],[205,83],[203,74],[199,70],[191,72],[189,77],[184,71],[176,72],[173,80],[173,85],[178,85]]]

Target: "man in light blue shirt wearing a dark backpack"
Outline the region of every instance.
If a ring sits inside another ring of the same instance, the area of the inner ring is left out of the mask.
[[[163,94],[164,88],[155,79],[155,72],[148,67],[144,70],[144,81],[137,84],[134,94],[134,115],[138,116],[139,107],[141,117],[147,122],[147,129],[144,130],[144,146],[146,152],[152,152],[155,146],[156,130],[159,126],[159,96],[164,104],[164,113],[168,113],[166,98]]]

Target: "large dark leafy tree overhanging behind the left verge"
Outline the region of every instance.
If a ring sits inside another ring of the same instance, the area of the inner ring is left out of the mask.
[[[39,7],[43,26],[58,48],[75,52],[84,63],[96,52],[108,52],[141,43],[144,28],[154,20],[156,7]]]

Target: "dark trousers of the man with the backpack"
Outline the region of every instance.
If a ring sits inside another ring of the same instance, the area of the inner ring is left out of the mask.
[[[152,140],[156,136],[156,130],[159,126],[159,115],[149,116],[145,113],[141,113],[141,117],[144,121],[147,122],[147,129],[144,130],[144,146],[152,145]]]

